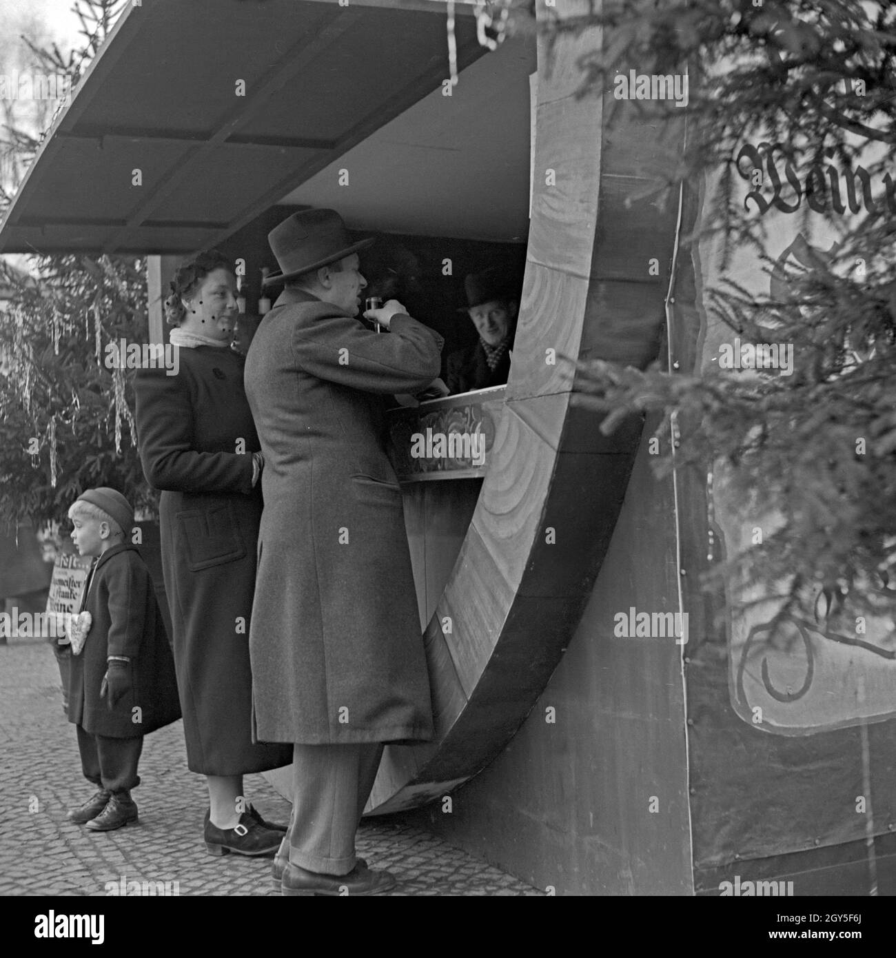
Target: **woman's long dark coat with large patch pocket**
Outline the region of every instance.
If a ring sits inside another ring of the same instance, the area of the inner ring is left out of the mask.
[[[141,369],[137,441],[159,504],[162,570],[187,764],[241,775],[292,761],[282,744],[252,741],[249,624],[262,496],[252,486],[258,435],[232,350],[179,350],[179,369]]]

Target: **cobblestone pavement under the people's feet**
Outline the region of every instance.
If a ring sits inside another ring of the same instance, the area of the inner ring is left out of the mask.
[[[0,645],[0,895],[104,896],[123,878],[176,881],[180,895],[280,894],[269,858],[205,851],[208,796],[187,769],[179,721],[147,737],[140,775],[140,824],[95,834],[67,822],[93,787],[62,714],[53,651],[40,640]],[[244,791],[265,818],[287,822],[287,801],[261,775],[246,776]],[[543,894],[395,816],[362,823],[357,852],[395,874],[393,895]]]

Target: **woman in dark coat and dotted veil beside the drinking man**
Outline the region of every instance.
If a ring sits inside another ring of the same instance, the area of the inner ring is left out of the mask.
[[[178,269],[166,302],[178,362],[136,377],[137,432],[162,490],[162,564],[187,764],[204,774],[210,852],[273,854],[285,829],[242,798],[242,775],[289,764],[288,745],[253,743],[249,619],[262,514],[258,435],[230,349],[236,279],[217,251]]]

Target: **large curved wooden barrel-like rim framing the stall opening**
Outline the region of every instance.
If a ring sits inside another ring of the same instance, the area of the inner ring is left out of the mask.
[[[568,19],[590,8],[557,0],[550,12]],[[657,353],[677,211],[632,200],[655,171],[639,172],[627,146],[655,157],[651,145],[668,130],[632,122],[628,139],[625,126],[608,136],[606,108],[625,119],[628,104],[576,96],[601,31],[557,34],[549,58],[539,43],[536,186],[511,379],[492,410],[470,527],[425,629],[436,738],[386,748],[372,814],[446,793],[513,737],[582,615],[640,438],[640,421],[602,436],[600,416],[571,402],[568,367],[550,358],[644,365]],[[666,277],[650,276],[651,259]]]

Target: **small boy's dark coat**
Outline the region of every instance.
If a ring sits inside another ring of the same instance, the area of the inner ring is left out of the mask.
[[[68,720],[91,735],[131,739],[179,719],[172,650],[136,546],[107,549],[86,585],[79,611],[89,612],[92,623],[80,654],[71,657]],[[133,683],[112,709],[100,697],[107,655],[130,659]]]

